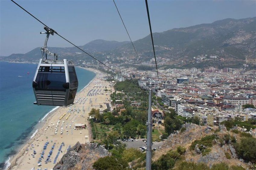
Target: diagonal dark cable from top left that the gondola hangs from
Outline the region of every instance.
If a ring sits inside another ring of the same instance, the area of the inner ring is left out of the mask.
[[[39,19],[37,19],[37,17],[35,17],[34,15],[30,14],[30,12],[28,12],[27,10],[25,10],[23,7],[21,7],[18,3],[14,2],[14,0],[11,0],[14,4],[18,5],[21,9],[23,9],[25,12],[27,12],[29,15],[31,15],[33,18],[35,18],[37,21],[39,21],[41,24],[43,24],[44,26],[46,26],[47,28],[49,28],[50,30],[52,30],[54,33],[56,33],[58,36],[60,36],[62,39],[66,40],[67,42],[69,42],[70,44],[74,45],[76,48],[78,48],[79,50],[83,51],[85,54],[89,55],[90,57],[92,57],[94,60],[98,61],[99,63],[103,64],[104,66],[106,66],[107,68],[109,68],[110,70],[114,71],[115,73],[117,73],[118,75],[122,76],[123,78],[127,79],[126,77],[124,77],[123,75],[121,75],[120,73],[118,73],[117,71],[115,71],[114,69],[110,68],[109,66],[107,66],[106,64],[102,63],[100,60],[98,60],[97,58],[93,57],[91,54],[88,54],[87,52],[85,52],[83,49],[79,48],[77,45],[73,44],[72,42],[70,42],[69,40],[67,40],[66,38],[64,38],[63,36],[59,35],[55,30],[51,29],[49,26],[47,26],[45,23],[43,23],[42,21],[40,21]],[[127,79],[129,80],[129,79]],[[129,80],[130,81],[130,80]]]

